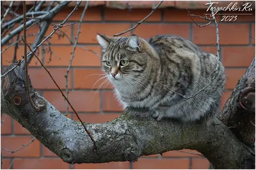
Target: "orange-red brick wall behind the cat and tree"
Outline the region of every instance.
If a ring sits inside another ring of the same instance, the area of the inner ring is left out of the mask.
[[[71,10],[72,8],[67,8],[59,13],[54,18],[54,22],[61,22]],[[113,34],[125,31],[132,25],[135,25],[136,21],[147,16],[150,11],[147,9],[127,11],[104,9],[101,7],[89,8],[86,11],[81,27],[79,45],[100,54],[100,46],[95,38],[97,32],[113,36]],[[196,15],[203,15],[205,10],[190,10],[190,12]],[[72,23],[79,20],[81,13],[82,9],[79,8],[68,22]],[[221,101],[223,105],[236,86],[237,80],[243,76],[244,71],[246,71],[255,55],[255,41],[249,37],[249,34],[255,37],[255,15],[238,16],[236,22],[220,22],[220,15],[216,17],[220,27],[220,55],[227,74],[227,90],[223,94]],[[196,18],[196,21],[206,24],[204,20],[198,18]],[[77,24],[63,27],[61,30],[74,41]],[[47,35],[51,31],[52,28],[47,31]],[[36,32],[36,27],[28,33],[33,32]],[[141,24],[134,31],[127,32],[125,36],[131,34],[138,34],[142,38],[149,38],[156,34],[176,34],[196,43],[206,52],[216,53],[216,47],[214,47],[216,43],[216,29],[214,25],[202,28],[197,27],[191,22],[186,10],[156,10],[148,18],[147,22]],[[29,37],[28,41],[32,43],[34,39],[35,37]],[[49,62],[49,53],[46,53],[42,60],[47,68],[49,68],[49,71],[51,71],[58,85],[65,89],[64,75],[67,72],[72,45],[70,45],[68,38],[58,39],[56,35],[52,36],[51,43],[51,48],[54,52],[51,62]],[[20,43],[20,46],[22,46],[22,43]],[[22,55],[22,52],[23,49],[20,47],[18,49],[19,57]],[[42,57],[42,49],[40,49],[40,56]],[[12,60],[13,48],[4,52],[2,57],[3,66],[8,66],[9,63],[6,62],[6,59]],[[77,48],[72,69],[70,69],[68,74],[69,100],[76,111],[79,112],[84,122],[106,122],[113,120],[113,118],[118,117],[122,113],[122,107],[113,97],[111,85],[108,85],[105,90],[100,88],[97,91],[97,87],[102,83],[102,81],[99,81],[93,87],[100,76],[88,75],[101,73],[100,58],[92,52]],[[35,59],[31,61],[29,66],[29,75],[35,89],[58,110],[65,113],[67,104],[54,83],[52,83],[51,78],[36,63]],[[68,117],[77,120],[72,110],[69,111]],[[4,115],[2,115],[3,118]],[[1,148],[10,150],[20,148],[20,146],[31,140],[30,133],[10,117],[6,117],[5,122],[1,126],[1,134]],[[3,150],[1,153],[3,155],[7,154]],[[111,162],[108,164],[75,164],[72,166],[64,163],[37,140],[23,150],[4,158],[3,168],[8,168],[10,162],[13,162],[11,166],[13,169],[206,169],[209,167],[209,162],[198,155],[176,151],[163,153],[163,157],[161,155],[141,157],[135,163]]]

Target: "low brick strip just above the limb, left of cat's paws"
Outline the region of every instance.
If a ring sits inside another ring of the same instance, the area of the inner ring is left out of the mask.
[[[106,114],[84,114],[79,113],[79,117],[83,122],[86,123],[103,123],[103,122],[111,122],[115,118],[119,117],[120,113],[106,113]],[[74,120],[79,121],[77,116],[74,115]]]

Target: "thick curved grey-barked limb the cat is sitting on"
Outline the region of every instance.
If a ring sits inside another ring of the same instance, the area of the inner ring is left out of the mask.
[[[248,72],[248,76],[252,76],[252,71]],[[40,111],[33,110],[26,95],[24,71],[20,67],[1,81],[1,111],[17,120],[67,163],[134,162],[142,155],[189,148],[203,153],[216,169],[255,167],[254,149],[239,141],[217,118],[207,125],[157,122],[147,110],[132,108],[126,108],[111,122],[84,123],[97,143],[97,150],[93,150],[93,143],[81,123],[63,116],[30,85],[31,98],[40,105]],[[225,107],[232,108],[229,104]]]

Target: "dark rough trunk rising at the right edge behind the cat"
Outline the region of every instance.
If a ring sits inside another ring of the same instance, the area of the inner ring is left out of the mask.
[[[228,99],[221,120],[237,138],[250,147],[255,145],[255,58]],[[253,124],[252,124],[253,122]]]

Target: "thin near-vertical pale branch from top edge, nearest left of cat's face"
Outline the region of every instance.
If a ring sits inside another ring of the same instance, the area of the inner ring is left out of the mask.
[[[75,45],[74,45],[74,48],[72,50],[72,55],[71,55],[71,59],[70,59],[70,62],[69,62],[68,69],[67,69],[67,73],[65,74],[67,99],[68,99],[68,73],[69,73],[70,67],[72,67],[72,61],[73,61],[74,56],[75,56],[75,50],[76,50],[76,46],[77,46],[77,42],[78,42],[78,38],[79,38],[79,34],[80,34],[81,25],[82,25],[82,22],[83,22],[83,18],[84,18],[85,12],[86,12],[86,10],[88,8],[88,4],[89,4],[89,1],[87,1],[86,5],[84,6],[84,10],[83,10],[83,13],[81,15],[81,18],[80,18],[80,21],[79,21],[79,25],[77,27],[77,34],[76,34],[76,38],[75,38],[76,39]],[[68,114],[68,103],[67,103],[67,114]],[[79,117],[77,117],[77,118],[79,118]]]

